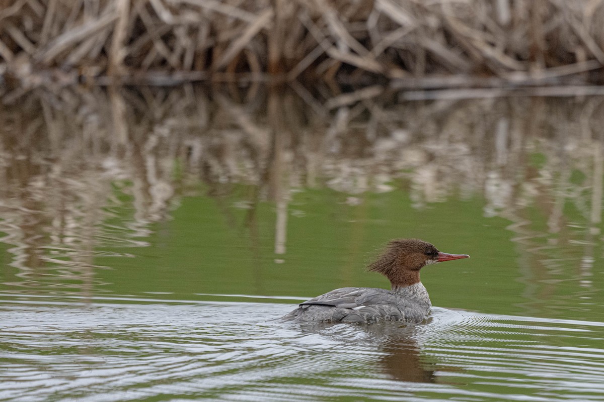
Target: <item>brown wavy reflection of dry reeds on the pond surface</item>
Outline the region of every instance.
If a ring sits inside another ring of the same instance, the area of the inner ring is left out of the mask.
[[[403,190],[417,209],[481,196],[484,216],[511,222],[527,298],[551,294],[543,281],[569,261],[589,291],[600,257],[603,98],[399,103],[391,93],[324,106],[300,89],[235,91],[65,88],[5,105],[0,230],[19,278],[8,286],[99,291],[99,250],[145,245],[149,224],[199,195],[200,183],[237,225],[226,201],[240,183],[251,189],[237,206],[252,247],[256,206],[276,206],[275,262],[287,256],[301,190],[327,187],[351,204]],[[579,259],[560,245],[582,248]]]

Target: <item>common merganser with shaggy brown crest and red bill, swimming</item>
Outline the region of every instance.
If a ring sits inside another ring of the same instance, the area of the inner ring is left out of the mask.
[[[361,322],[404,321],[419,324],[428,317],[432,303],[419,279],[419,271],[437,262],[469,258],[467,254],[441,253],[419,239],[388,242],[368,271],[390,280],[391,290],[342,287],[315,297],[281,317],[283,321]]]

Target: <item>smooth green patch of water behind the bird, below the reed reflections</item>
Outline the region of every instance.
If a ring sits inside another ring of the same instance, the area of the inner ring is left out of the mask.
[[[403,192],[367,196],[365,205],[353,207],[345,206],[345,196],[329,190],[297,193],[292,204],[298,216],[288,217],[288,250],[283,256],[274,254],[274,206],[257,206],[258,222],[250,228],[246,225],[249,210],[230,207],[224,211],[220,208],[224,202],[202,196],[184,198],[172,213],[173,220],[159,224],[146,238],[153,247],[129,249],[135,259],[95,260],[115,268],[99,271],[99,278],[112,284],[106,291],[169,292],[178,299],[195,294],[312,296],[343,286],[388,287],[385,278],[364,272],[365,262],[386,240],[413,236],[429,239],[442,250],[474,257],[423,272],[426,286],[442,289],[432,292],[440,306],[523,312],[517,303],[502,305],[509,295],[522,291],[515,280],[518,270],[507,268],[519,257],[506,231],[509,222],[482,218],[477,200],[414,212]],[[275,259],[283,262],[275,263]],[[501,265],[492,266],[490,259]],[[493,298],[489,289],[499,281],[503,282],[498,286],[501,298]],[[463,297],[447,287],[463,289]]]

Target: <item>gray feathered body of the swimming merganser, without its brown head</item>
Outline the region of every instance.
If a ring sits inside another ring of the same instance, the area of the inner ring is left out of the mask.
[[[283,321],[378,322],[418,324],[430,312],[428,291],[421,282],[392,291],[373,287],[342,287],[300,303]]]

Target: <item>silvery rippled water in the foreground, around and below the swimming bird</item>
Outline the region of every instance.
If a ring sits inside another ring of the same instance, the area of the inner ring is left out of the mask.
[[[0,399],[601,400],[600,322],[434,309],[274,324],[271,303],[0,303]]]

